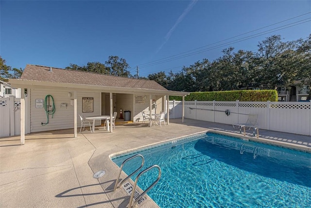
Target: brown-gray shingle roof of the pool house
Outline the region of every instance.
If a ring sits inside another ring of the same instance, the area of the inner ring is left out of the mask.
[[[57,83],[123,87],[148,90],[167,90],[153,80],[110,76],[83,71],[53,68],[27,64],[21,80],[47,81]]]

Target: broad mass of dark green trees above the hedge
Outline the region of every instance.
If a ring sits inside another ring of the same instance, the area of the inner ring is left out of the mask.
[[[224,49],[223,56],[184,66],[180,72],[149,75],[168,90],[187,92],[234,89],[276,89],[294,81],[311,85],[311,35],[306,39],[282,41],[274,35],[260,41],[258,51]]]

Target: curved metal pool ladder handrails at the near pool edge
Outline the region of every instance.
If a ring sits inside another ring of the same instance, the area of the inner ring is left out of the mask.
[[[120,183],[118,183],[118,181],[119,181],[119,179],[120,179],[120,174],[121,174],[121,171],[122,171],[122,168],[123,168],[124,164],[125,164],[127,161],[129,161],[129,160],[131,160],[131,159],[134,159],[134,158],[136,158],[136,157],[141,157],[141,159],[142,159],[140,167],[139,167],[138,169],[136,169],[134,172],[132,172],[129,176],[127,176],[126,178],[124,178]],[[132,157],[127,158],[126,160],[124,160],[124,161],[122,162],[122,164],[121,164],[120,171],[119,171],[119,175],[118,175],[118,177],[117,177],[117,179],[116,179],[116,184],[115,184],[115,187],[114,187],[113,191],[115,191],[117,188],[121,187],[121,185],[122,185],[127,179],[129,179],[129,178],[130,178],[132,175],[134,175],[138,170],[140,170],[140,169],[142,168],[142,166],[144,165],[144,163],[145,163],[145,159],[144,159],[144,157],[143,157],[141,154],[136,154],[136,155],[134,155],[134,156],[132,156]],[[146,189],[144,192],[142,192],[142,193],[139,195],[139,197],[137,198],[137,200],[135,200],[135,202],[134,202],[134,204],[133,204],[133,206],[132,206],[133,198],[134,198],[134,193],[135,193],[135,188],[136,188],[136,186],[137,186],[137,182],[138,182],[139,177],[140,177],[142,174],[144,174],[145,172],[147,172],[147,171],[149,171],[149,170],[151,170],[151,169],[153,169],[153,168],[157,168],[157,169],[159,170],[157,179],[154,181],[153,184],[151,184],[151,185],[148,187],[148,189]],[[152,188],[155,186],[155,184],[160,180],[161,172],[162,172],[162,171],[161,171],[161,169],[160,169],[160,167],[159,167],[158,165],[153,165],[153,166],[150,166],[149,168],[147,168],[146,170],[142,170],[142,171],[137,175],[137,177],[136,177],[136,179],[135,179],[133,191],[132,191],[132,193],[131,193],[130,201],[129,201],[129,203],[128,203],[128,208],[134,208],[134,206],[137,204],[137,202],[138,202],[150,189],[152,189]],[[119,186],[118,186],[118,184],[119,184]]]

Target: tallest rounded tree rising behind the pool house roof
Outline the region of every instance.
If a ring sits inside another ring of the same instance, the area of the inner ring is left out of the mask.
[[[110,74],[114,76],[125,76],[132,77],[130,72],[127,70],[130,68],[124,58],[117,56],[109,56],[108,60],[105,61],[106,67],[109,69]]]

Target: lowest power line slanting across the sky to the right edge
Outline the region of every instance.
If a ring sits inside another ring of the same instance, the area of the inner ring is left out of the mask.
[[[307,19],[311,19],[311,18],[307,18]],[[286,29],[286,28],[289,28],[289,27],[293,27],[293,26],[296,26],[296,25],[303,24],[303,23],[311,21],[311,20],[307,20],[307,19],[299,20],[299,21],[296,21],[296,22],[293,22],[293,23],[290,23],[290,24],[286,24],[286,25],[283,25],[283,26],[280,26],[280,27],[276,27],[274,29],[263,31],[263,32],[260,32],[260,33],[257,33],[257,34],[251,35],[251,36],[244,37],[244,38],[239,38],[239,39],[236,39],[236,40],[232,40],[232,41],[229,41],[229,42],[226,42],[226,43],[222,43],[222,44],[219,44],[219,45],[216,45],[216,46],[209,47],[207,49],[202,49],[202,50],[199,50],[199,51],[196,51],[196,52],[185,54],[183,56],[166,58],[166,60],[157,61],[157,62],[154,61],[154,63],[150,63],[150,64],[146,64],[146,65],[140,66],[140,68],[150,67],[150,66],[161,64],[161,63],[169,62],[169,61],[172,61],[172,60],[193,56],[193,55],[200,54],[200,53],[203,53],[203,52],[206,52],[206,51],[210,51],[210,50],[214,50],[214,49],[217,49],[217,48],[221,48],[221,47],[224,47],[224,46],[229,45],[229,44],[233,44],[233,43],[237,43],[237,42],[242,42],[244,40],[251,39],[251,38],[257,38],[257,37],[262,36],[262,35],[266,35],[266,34],[269,34],[269,33],[272,33],[272,32],[276,32],[276,31],[279,31],[279,30],[283,30],[283,29]],[[307,20],[307,21],[304,21],[304,20]],[[304,22],[300,22],[300,21],[304,21]],[[298,23],[298,22],[300,22],[300,23]],[[297,24],[295,24],[295,23],[297,23]],[[291,25],[291,24],[294,24],[294,25]],[[291,26],[288,26],[288,25],[291,25]],[[285,27],[285,26],[287,26],[287,27]],[[281,27],[283,27],[283,28],[281,28]],[[277,29],[277,28],[280,28],[280,29]],[[239,40],[239,41],[237,41],[237,40]]]

